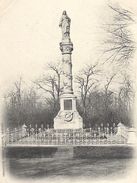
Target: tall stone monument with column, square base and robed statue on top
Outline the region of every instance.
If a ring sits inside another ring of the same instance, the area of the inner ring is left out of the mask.
[[[54,118],[54,129],[82,129],[83,120],[76,109],[76,96],[73,92],[72,59],[73,43],[70,39],[70,23],[66,11],[63,11],[59,27],[62,30],[60,50],[61,63],[61,94],[60,111]]]

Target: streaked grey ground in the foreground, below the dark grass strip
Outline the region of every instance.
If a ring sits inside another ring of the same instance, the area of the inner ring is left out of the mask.
[[[64,158],[10,158],[7,166],[18,178],[54,177],[123,177],[132,167],[132,159],[64,159]]]

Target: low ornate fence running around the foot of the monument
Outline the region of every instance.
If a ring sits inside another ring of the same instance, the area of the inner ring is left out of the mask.
[[[126,144],[127,127],[123,124],[112,126],[101,124],[87,129],[55,130],[23,125],[20,129],[7,129],[5,145],[98,145]]]

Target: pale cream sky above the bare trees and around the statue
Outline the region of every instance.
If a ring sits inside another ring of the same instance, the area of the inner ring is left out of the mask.
[[[0,0],[1,90],[20,76],[35,80],[46,73],[47,63],[61,61],[63,10],[71,18],[73,73],[101,59],[101,24],[109,19],[107,4],[117,2],[137,15],[135,0]]]

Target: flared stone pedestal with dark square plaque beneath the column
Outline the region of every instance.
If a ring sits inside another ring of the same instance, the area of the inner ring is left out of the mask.
[[[60,97],[60,111],[54,118],[54,129],[82,129],[83,120],[76,110],[76,97],[63,94]]]

